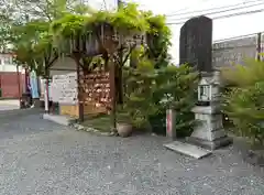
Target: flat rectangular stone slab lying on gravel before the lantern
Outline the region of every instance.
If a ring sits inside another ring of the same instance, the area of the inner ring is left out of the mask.
[[[201,159],[211,154],[211,151],[209,150],[180,141],[174,141],[172,143],[164,144],[164,147],[195,159]]]

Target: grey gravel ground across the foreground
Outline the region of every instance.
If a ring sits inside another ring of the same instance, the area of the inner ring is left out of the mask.
[[[96,137],[41,119],[0,121],[1,195],[263,195],[262,170],[233,149],[194,160],[160,137]]]

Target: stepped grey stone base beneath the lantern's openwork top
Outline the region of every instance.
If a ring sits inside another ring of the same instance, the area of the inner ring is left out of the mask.
[[[193,109],[198,124],[187,142],[209,150],[227,147],[232,142],[223,129],[222,115],[218,110],[215,106],[197,106]]]

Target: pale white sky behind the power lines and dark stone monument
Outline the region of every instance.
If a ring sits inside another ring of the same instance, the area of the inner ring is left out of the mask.
[[[244,11],[252,11],[252,10],[258,10],[264,9],[264,0],[261,2],[252,2],[253,0],[125,0],[125,2],[136,2],[141,9],[143,10],[151,10],[156,14],[174,14],[174,13],[184,13],[184,12],[193,12],[193,11],[199,11],[199,10],[207,10],[207,9],[213,9],[219,7],[227,7],[230,6],[230,8],[226,9],[232,9],[231,6],[249,2],[249,4],[258,4],[255,7],[248,7],[240,10],[234,10],[230,12],[213,14],[213,15],[207,15],[207,17],[219,17],[219,15],[227,15],[238,12],[244,12]],[[117,8],[117,0],[89,0],[89,3],[91,3],[92,7],[97,9],[114,9]],[[243,4],[240,4],[239,7],[243,7]],[[215,12],[216,10],[206,11],[206,12]],[[199,13],[200,14],[200,13]],[[196,17],[197,13],[194,14],[185,14],[185,15],[175,15],[175,17],[168,17],[167,22],[176,22],[178,18],[191,18]],[[229,39],[233,36],[240,36],[245,34],[252,34],[257,32],[264,31],[264,25],[262,23],[262,19],[264,17],[264,12],[261,13],[254,13],[254,14],[246,14],[246,15],[238,15],[238,17],[231,17],[226,19],[216,19],[213,20],[213,32],[212,32],[212,39],[213,41],[222,40],[222,39]],[[187,20],[187,19],[186,19]],[[179,54],[179,30],[183,24],[174,24],[169,25],[173,37],[172,43],[173,46],[170,48],[170,54],[173,56],[174,62],[178,63],[178,54]]]

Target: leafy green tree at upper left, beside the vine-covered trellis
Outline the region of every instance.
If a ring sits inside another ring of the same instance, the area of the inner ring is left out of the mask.
[[[67,11],[79,14],[91,11],[78,0],[6,0],[0,4],[0,10],[2,48],[12,45],[18,64],[45,76],[59,55],[53,46],[51,22],[64,17]]]

